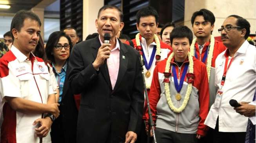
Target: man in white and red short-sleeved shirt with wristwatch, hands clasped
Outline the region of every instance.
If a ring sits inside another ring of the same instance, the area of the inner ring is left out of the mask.
[[[19,11],[11,22],[13,46],[0,59],[1,143],[51,143],[48,132],[60,111],[48,68],[31,53],[40,26],[40,19],[31,11]]]

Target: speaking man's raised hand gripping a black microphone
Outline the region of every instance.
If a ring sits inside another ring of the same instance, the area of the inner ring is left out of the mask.
[[[97,57],[95,59],[95,61],[93,62],[93,67],[95,68],[95,70],[99,70],[99,67],[104,64],[105,59],[109,58],[110,55],[110,46],[111,44],[109,43],[110,40],[110,34],[109,33],[105,33],[104,34],[104,43],[102,44],[102,46],[100,46],[99,50],[98,50],[98,54]]]

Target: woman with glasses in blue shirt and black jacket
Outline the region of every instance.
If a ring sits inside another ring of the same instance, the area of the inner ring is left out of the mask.
[[[60,104],[60,116],[51,126],[52,143],[75,142],[78,110],[72,91],[68,88],[67,80],[65,81],[71,48],[71,39],[61,31],[53,32],[45,46],[60,92],[60,96],[56,96],[56,102]]]

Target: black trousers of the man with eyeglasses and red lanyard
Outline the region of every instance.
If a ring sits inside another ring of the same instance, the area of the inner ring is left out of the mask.
[[[219,119],[215,129],[210,128],[200,143],[245,143],[246,132],[219,132]]]

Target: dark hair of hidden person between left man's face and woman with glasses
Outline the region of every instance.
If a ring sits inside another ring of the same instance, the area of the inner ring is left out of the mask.
[[[46,53],[45,53],[45,48],[44,48],[44,41],[42,39],[42,36],[39,34],[39,41],[36,45],[36,48],[33,51],[33,54],[36,57],[40,57],[44,61],[46,61]]]

